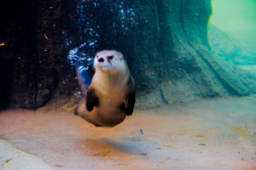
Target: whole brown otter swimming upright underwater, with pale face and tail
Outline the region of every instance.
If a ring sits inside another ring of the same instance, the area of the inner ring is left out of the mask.
[[[77,67],[83,98],[74,112],[96,127],[114,127],[133,112],[136,102],[133,77],[124,55],[116,50],[98,52],[94,68],[90,82],[84,81],[88,80],[88,73],[83,77]]]

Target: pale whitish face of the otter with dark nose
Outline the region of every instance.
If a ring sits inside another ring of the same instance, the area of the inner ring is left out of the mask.
[[[102,71],[125,70],[124,56],[115,50],[103,50],[96,54],[94,67]]]

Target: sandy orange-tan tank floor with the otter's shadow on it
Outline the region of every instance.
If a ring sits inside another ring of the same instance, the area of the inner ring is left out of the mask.
[[[117,127],[63,111],[3,111],[0,138],[61,170],[256,169],[256,96],[137,110]]]

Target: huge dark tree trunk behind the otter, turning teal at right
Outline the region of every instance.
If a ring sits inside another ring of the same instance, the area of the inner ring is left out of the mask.
[[[0,53],[10,65],[3,70],[12,77],[6,100],[11,107],[38,108],[54,96],[74,97],[73,65],[106,48],[125,55],[138,107],[256,91],[255,79],[211,53],[210,0],[32,2],[19,10],[9,5],[8,20],[2,21],[6,46]]]

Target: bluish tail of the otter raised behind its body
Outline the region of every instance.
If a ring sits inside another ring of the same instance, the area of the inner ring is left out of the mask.
[[[79,80],[79,86],[82,90],[82,94],[85,95],[86,90],[90,86],[90,82],[91,82],[90,75],[88,73],[88,67],[86,68],[84,65],[77,64],[76,70],[77,70],[77,77]]]

